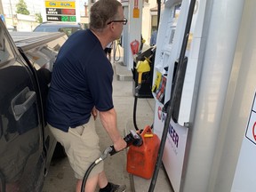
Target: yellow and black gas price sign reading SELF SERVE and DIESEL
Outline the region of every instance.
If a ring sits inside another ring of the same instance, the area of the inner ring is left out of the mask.
[[[75,1],[45,1],[46,20],[76,22]]]

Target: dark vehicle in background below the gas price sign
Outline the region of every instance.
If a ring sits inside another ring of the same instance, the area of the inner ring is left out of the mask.
[[[34,32],[64,32],[67,36],[71,36],[77,30],[82,30],[80,24],[71,23],[54,23],[54,22],[43,22],[38,25],[33,31]]]

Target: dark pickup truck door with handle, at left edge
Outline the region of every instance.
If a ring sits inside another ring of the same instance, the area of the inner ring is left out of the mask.
[[[33,70],[0,20],[0,191],[40,191],[43,187],[45,157],[38,93]]]

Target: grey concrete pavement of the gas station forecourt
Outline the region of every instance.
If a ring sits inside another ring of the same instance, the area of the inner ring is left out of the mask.
[[[117,70],[125,69],[119,64],[115,64]],[[126,71],[127,73],[127,71]],[[128,71],[129,73],[129,71]],[[123,74],[125,75],[125,74]],[[122,75],[122,76],[123,76]],[[129,76],[129,74],[128,74]],[[132,111],[134,97],[132,95],[132,81],[119,81],[117,76],[114,77],[114,105],[117,113],[117,125],[119,131],[126,135],[129,130],[133,129]],[[128,78],[129,80],[129,78]],[[154,99],[139,99],[137,104],[137,124],[140,129],[145,125],[153,124],[155,101]],[[100,119],[96,121],[96,129],[100,134],[101,148],[104,151],[111,145],[110,139],[100,124]],[[115,183],[126,184],[126,192],[146,192],[150,184],[150,180],[145,180],[136,176],[130,175],[126,172],[126,151],[119,152],[115,156],[108,156],[104,161],[105,171],[108,180]],[[45,178],[43,192],[73,192],[75,191],[76,179],[68,164],[67,158],[52,160],[50,171]],[[167,179],[163,169],[159,171],[158,179],[156,182],[156,192],[172,192],[171,184]]]

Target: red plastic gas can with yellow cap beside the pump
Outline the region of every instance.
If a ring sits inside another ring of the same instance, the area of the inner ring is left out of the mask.
[[[150,179],[154,172],[160,140],[150,126],[146,126],[140,136],[143,144],[129,148],[126,170],[144,179]]]

